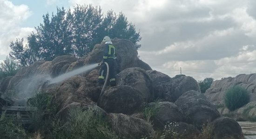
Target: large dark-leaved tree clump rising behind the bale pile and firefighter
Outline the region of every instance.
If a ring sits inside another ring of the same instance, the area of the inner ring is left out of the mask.
[[[77,5],[73,10],[57,7],[57,13],[43,15],[43,23],[35,27],[24,39],[11,42],[9,56],[18,60],[21,66],[28,66],[35,61],[51,61],[61,55],[82,57],[92,51],[95,44],[101,43],[104,36],[126,38],[135,44],[141,40],[140,32],[129,23],[123,13],[108,11],[103,15],[101,7]]]

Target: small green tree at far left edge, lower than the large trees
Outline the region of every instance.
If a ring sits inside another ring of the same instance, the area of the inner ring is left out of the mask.
[[[10,57],[6,57],[3,63],[0,63],[0,79],[6,76],[13,76],[17,73],[19,64]]]

